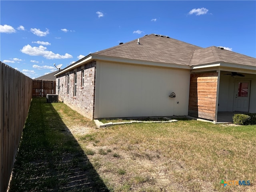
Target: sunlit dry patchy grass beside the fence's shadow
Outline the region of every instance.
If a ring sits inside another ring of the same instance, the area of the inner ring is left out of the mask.
[[[256,191],[256,126],[179,120],[97,129],[65,104],[52,105],[109,191]],[[250,185],[223,187],[222,179]]]

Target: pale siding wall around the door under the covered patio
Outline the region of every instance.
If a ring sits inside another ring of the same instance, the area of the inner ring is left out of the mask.
[[[218,111],[233,112],[235,80],[243,79],[243,80],[251,81],[249,112],[256,113],[256,75],[245,74],[246,75],[245,77],[233,78],[229,75],[224,75],[227,73],[228,72],[221,72],[221,75],[220,75]]]

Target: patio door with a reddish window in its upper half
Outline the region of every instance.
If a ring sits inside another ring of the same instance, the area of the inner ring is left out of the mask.
[[[250,102],[250,85],[249,80],[235,81],[235,95],[234,95],[234,111],[249,111]]]

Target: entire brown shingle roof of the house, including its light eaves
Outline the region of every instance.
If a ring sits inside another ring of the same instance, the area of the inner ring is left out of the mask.
[[[139,38],[139,43],[136,39],[89,54],[74,64],[67,66],[56,75],[97,59],[112,61],[122,59],[122,62],[137,64],[147,62],[150,65],[161,64],[162,66],[186,69],[198,68],[200,65],[205,65],[208,68],[210,66],[207,64],[228,63],[230,64],[229,67],[240,68],[242,66],[256,71],[256,68],[254,68],[256,66],[256,58],[220,49],[216,46],[202,48],[168,36],[150,34]]]

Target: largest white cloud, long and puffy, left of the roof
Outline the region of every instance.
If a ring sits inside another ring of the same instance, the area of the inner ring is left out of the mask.
[[[46,47],[40,45],[39,47],[31,47],[29,44],[25,45],[22,50],[20,50],[24,54],[32,55],[32,56],[42,56],[46,59],[67,59],[73,58],[72,55],[66,53],[65,55],[55,54],[52,51],[48,51]]]

